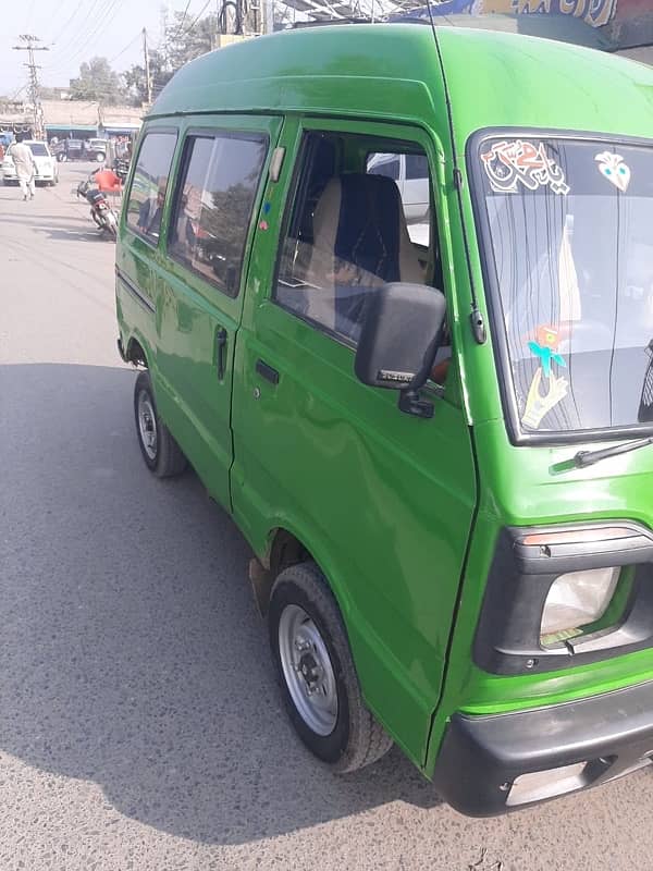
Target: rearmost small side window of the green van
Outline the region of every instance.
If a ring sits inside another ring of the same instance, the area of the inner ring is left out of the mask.
[[[127,201],[127,225],[157,244],[176,133],[146,133]]]

